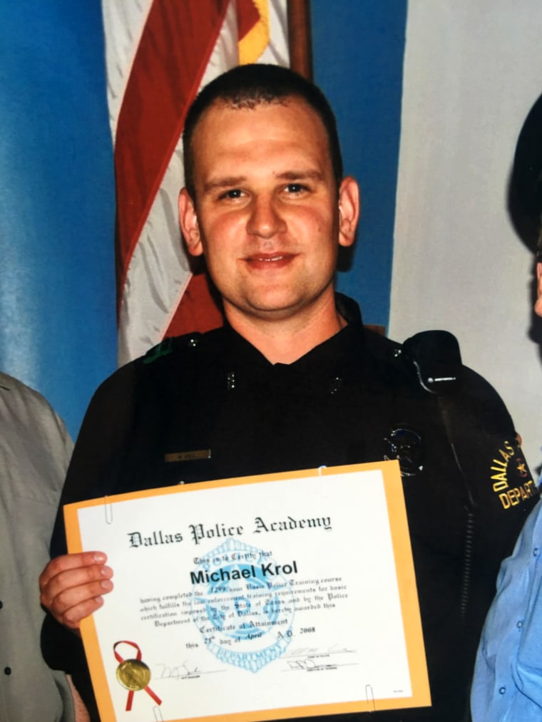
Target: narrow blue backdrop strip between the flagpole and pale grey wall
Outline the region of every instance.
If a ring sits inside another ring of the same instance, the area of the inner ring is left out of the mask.
[[[339,126],[345,172],[361,186],[361,222],[337,288],[366,323],[390,316],[406,0],[311,1],[314,80]]]

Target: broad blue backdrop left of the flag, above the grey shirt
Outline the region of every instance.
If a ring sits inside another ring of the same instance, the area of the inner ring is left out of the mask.
[[[116,365],[100,2],[1,0],[0,27],[0,368],[75,435]]]

